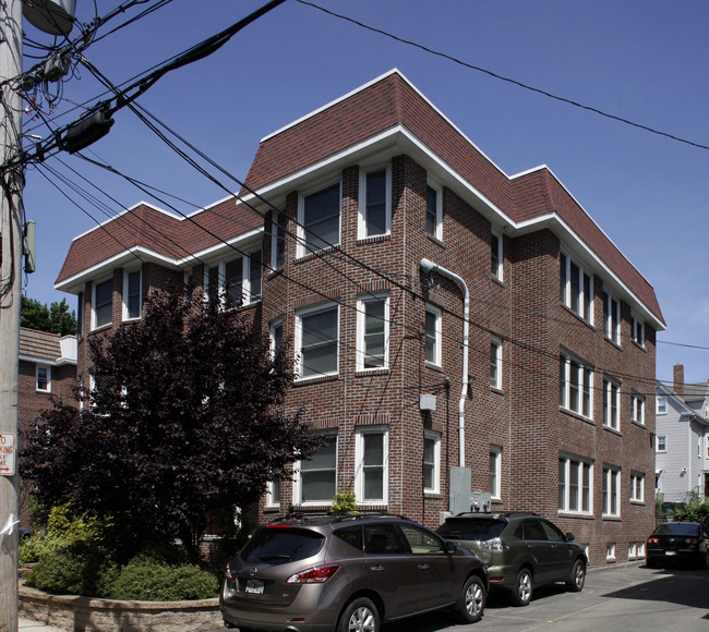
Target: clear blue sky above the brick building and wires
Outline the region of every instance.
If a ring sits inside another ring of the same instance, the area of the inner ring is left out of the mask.
[[[98,0],[98,13],[118,3]],[[263,3],[173,0],[93,44],[85,57],[120,84]],[[468,64],[709,145],[705,1],[317,3]],[[94,2],[77,0],[76,14],[82,22],[93,20]],[[113,20],[99,35],[123,21]],[[27,23],[25,31],[35,41],[53,42]],[[37,51],[25,47],[25,53]],[[34,61],[26,59],[25,68]],[[707,149],[526,90],[297,0],[261,17],[215,54],[165,76],[139,102],[243,180],[263,136],[393,68],[507,174],[546,165],[653,285],[668,323],[658,336],[658,378],[671,380],[675,363],[685,365],[686,381],[709,378],[709,352],[693,349],[709,347]],[[55,102],[56,123],[72,121],[81,111],[74,104],[93,105],[101,93],[88,71],[79,68]],[[128,109],[115,119],[110,134],[86,151],[89,157],[199,206],[225,197],[224,190],[181,161]],[[47,134],[28,119],[25,131]],[[115,202],[103,198],[107,206],[97,209],[60,183],[74,204],[49,183],[47,178],[58,182],[49,169],[99,195],[91,182]],[[73,296],[53,290],[74,236],[142,199],[165,207],[119,177],[67,154],[28,169],[26,177],[26,216],[37,222],[38,254],[25,293],[46,303],[65,297],[75,307]]]

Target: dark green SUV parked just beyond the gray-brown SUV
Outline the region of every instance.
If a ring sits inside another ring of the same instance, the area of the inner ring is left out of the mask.
[[[438,534],[477,554],[488,564],[490,587],[508,591],[516,606],[529,604],[533,586],[565,582],[569,591],[584,588],[584,547],[537,513],[459,513]]]

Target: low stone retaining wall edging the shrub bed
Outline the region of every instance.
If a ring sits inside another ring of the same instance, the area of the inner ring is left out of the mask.
[[[19,586],[20,615],[74,632],[199,632],[223,628],[218,599],[115,601]]]

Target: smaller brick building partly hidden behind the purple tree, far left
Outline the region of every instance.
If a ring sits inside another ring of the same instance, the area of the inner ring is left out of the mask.
[[[51,409],[51,398],[73,399],[76,379],[76,337],[20,328],[20,374],[17,378],[17,430],[31,430],[43,411]],[[20,519],[31,526],[21,483]]]

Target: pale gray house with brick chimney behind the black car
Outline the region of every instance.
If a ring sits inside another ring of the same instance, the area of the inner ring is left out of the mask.
[[[709,381],[684,382],[674,365],[673,388],[658,384],[656,491],[665,502],[687,500],[690,491],[709,499]]]

